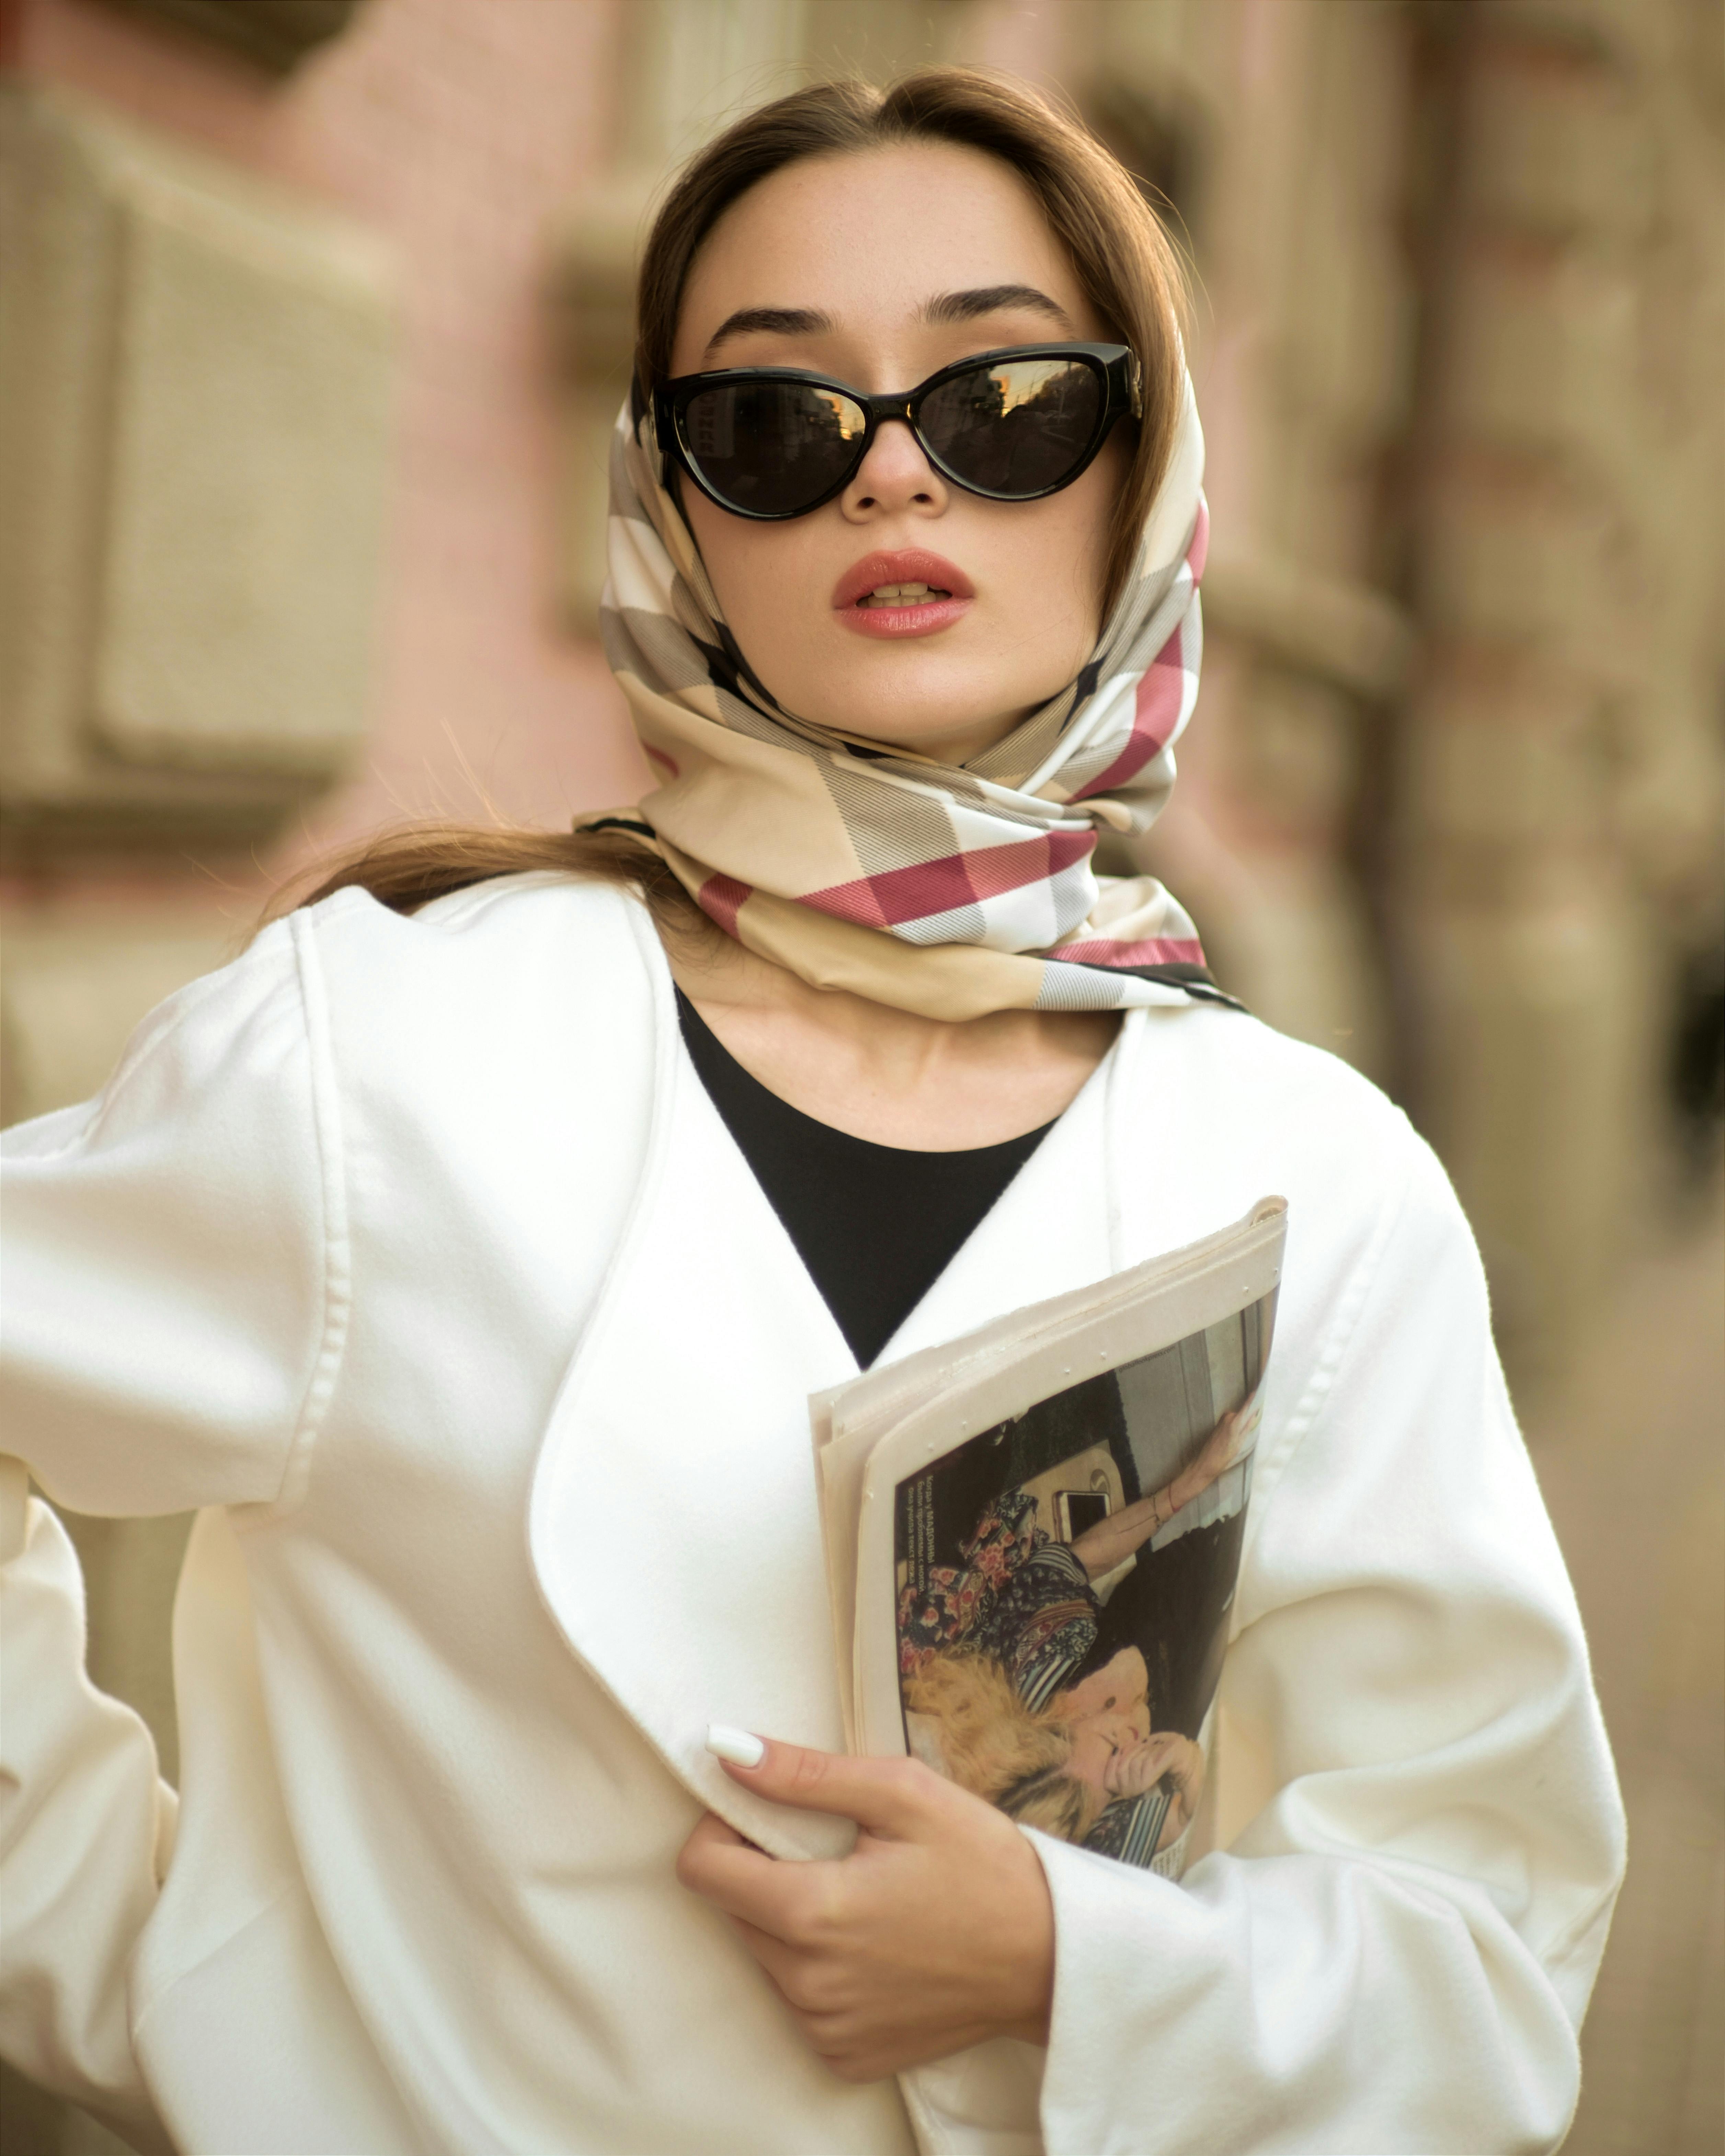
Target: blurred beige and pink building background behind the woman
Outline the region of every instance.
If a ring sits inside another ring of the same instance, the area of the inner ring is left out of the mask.
[[[1147,845],[1445,1156],[1634,1861],[1570,2147],[1719,2147],[1725,26],[1716,0],[0,0],[6,1121],[323,847],[645,772],[593,642],[656,190],[925,58],[1190,252],[1205,688]],[[172,1774],[185,1522],[73,1522]],[[4,2085],[9,2156],[112,2147]]]

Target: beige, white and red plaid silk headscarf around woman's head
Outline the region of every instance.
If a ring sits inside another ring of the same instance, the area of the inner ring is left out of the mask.
[[[1098,877],[1098,826],[1147,830],[1199,686],[1208,537],[1192,386],[1138,556],[1076,681],[964,765],[796,718],[737,649],[664,489],[651,412],[610,444],[606,658],[660,785],[627,815],[699,906],[817,987],[927,1018],[1115,1011],[1210,983],[1147,875]]]

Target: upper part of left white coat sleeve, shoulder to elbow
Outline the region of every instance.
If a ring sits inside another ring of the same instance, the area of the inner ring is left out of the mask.
[[[6,1132],[0,1449],[73,1511],[270,1503],[345,1317],[306,916],[170,996],[108,1091]]]

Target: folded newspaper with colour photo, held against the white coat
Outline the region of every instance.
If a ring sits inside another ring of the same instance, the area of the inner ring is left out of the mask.
[[[1177,1878],[1287,1203],[811,1401],[845,1736]]]

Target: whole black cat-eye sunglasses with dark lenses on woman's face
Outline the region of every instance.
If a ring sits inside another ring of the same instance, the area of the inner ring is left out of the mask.
[[[893,418],[966,494],[1035,502],[1070,487],[1115,420],[1138,410],[1138,362],[1126,345],[979,351],[897,397],[794,367],[727,367],[653,390],[666,457],[720,509],[763,522],[830,502]]]

